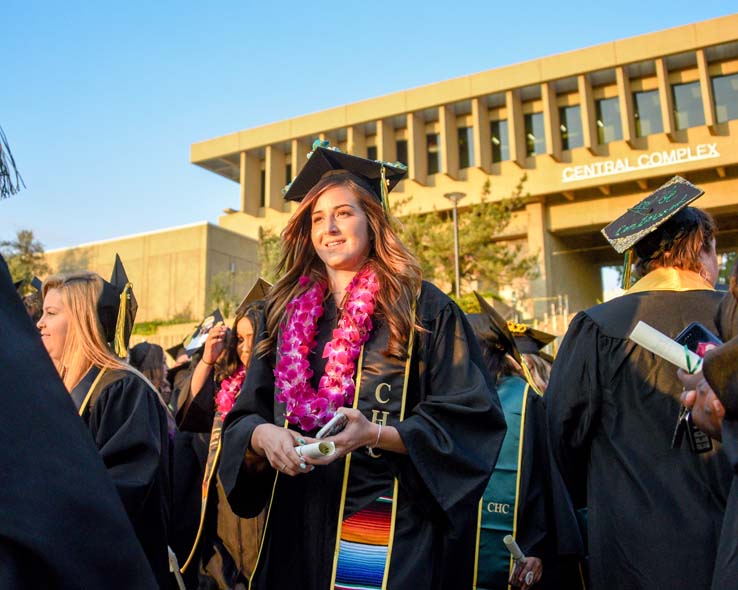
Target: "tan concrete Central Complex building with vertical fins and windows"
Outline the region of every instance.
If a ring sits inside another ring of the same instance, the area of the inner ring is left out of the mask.
[[[698,205],[738,244],[738,15],[497,68],[195,143],[191,161],[240,186],[219,224],[257,239],[294,205],[281,188],[315,138],[408,165],[400,213],[530,194],[503,235],[538,253],[527,315],[568,297],[603,297],[601,269],[621,262],[600,229],[674,174],[705,190]]]

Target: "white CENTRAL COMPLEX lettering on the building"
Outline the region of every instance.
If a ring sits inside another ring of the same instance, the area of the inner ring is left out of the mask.
[[[626,172],[636,172],[648,168],[660,168],[672,164],[684,162],[696,162],[719,158],[716,143],[701,143],[694,147],[679,147],[672,150],[659,152],[648,152],[637,157],[615,158],[593,162],[592,164],[581,164],[579,166],[567,166],[561,172],[561,182],[576,182],[589,178],[601,178],[603,176],[614,176]]]

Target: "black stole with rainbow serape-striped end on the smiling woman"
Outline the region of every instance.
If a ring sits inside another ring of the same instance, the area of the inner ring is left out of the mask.
[[[405,418],[414,336],[413,329],[404,363],[384,356],[380,352],[384,346],[378,342],[369,351],[362,350],[353,407],[364,411],[371,409],[372,422],[392,425]],[[365,367],[371,369],[366,373],[375,376],[373,379],[363,378]],[[390,477],[386,489],[376,498],[356,498],[352,494],[366,473],[362,464],[380,457],[381,451],[375,449],[357,449],[346,456],[331,589],[379,590],[387,587],[397,514],[397,479]],[[352,508],[353,513],[349,514]]]

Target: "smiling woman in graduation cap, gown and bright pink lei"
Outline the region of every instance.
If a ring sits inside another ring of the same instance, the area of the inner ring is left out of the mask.
[[[473,569],[454,531],[475,519],[504,419],[466,319],[392,229],[403,174],[319,145],[287,191],[301,202],[284,276],[223,425],[228,501],[267,514],[250,588],[449,588],[446,556]],[[298,454],[339,411],[336,453]]]

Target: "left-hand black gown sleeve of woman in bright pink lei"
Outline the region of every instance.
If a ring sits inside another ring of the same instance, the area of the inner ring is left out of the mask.
[[[266,337],[264,314],[259,318],[254,350]],[[223,423],[219,476],[233,511],[242,517],[257,516],[266,505],[275,472],[261,458],[246,464],[251,435],[260,424],[274,423],[274,367],[268,356],[254,353],[233,408]]]

